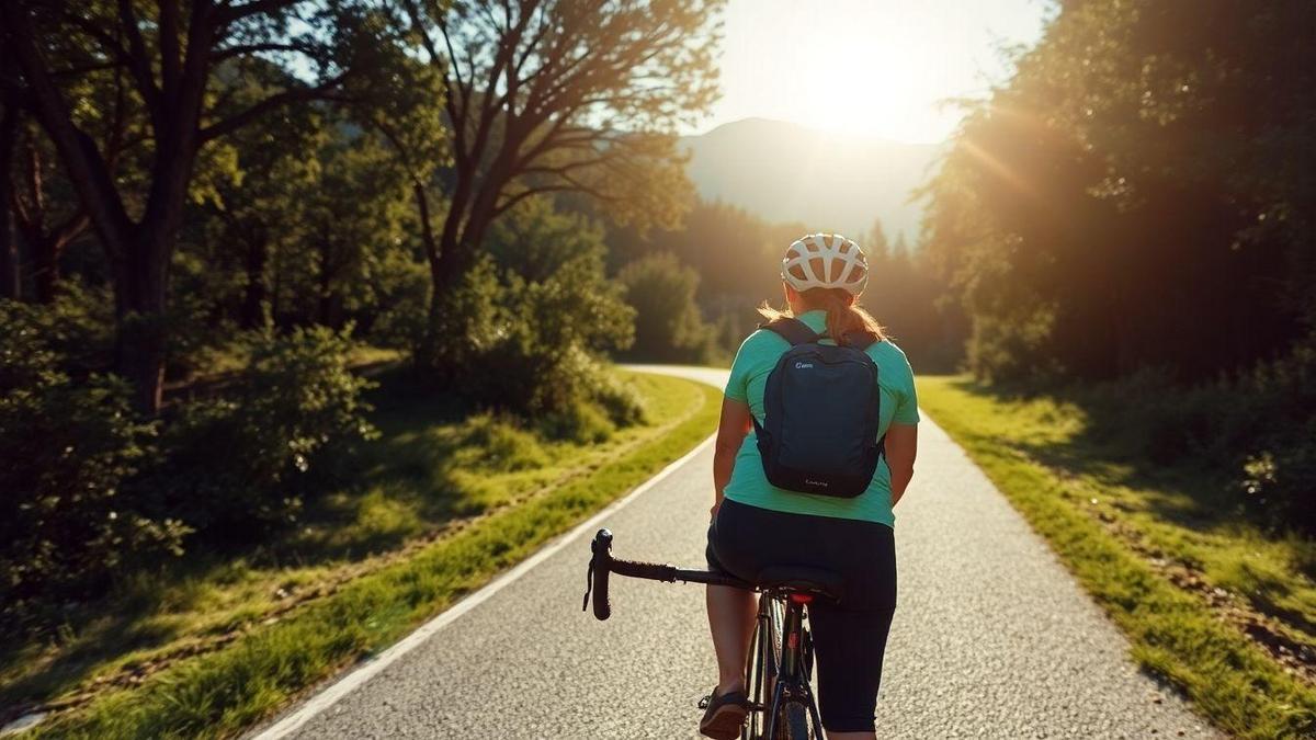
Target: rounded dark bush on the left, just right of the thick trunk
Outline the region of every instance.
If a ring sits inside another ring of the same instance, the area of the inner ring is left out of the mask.
[[[368,381],[347,370],[351,328],[259,334],[251,363],[222,398],[183,406],[150,485],[204,536],[247,540],[297,517],[332,482],[366,421]]]

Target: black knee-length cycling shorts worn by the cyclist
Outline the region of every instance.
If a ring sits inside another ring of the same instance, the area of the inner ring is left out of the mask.
[[[755,581],[769,566],[807,565],[841,574],[841,603],[808,607],[817,657],[819,710],[830,732],[869,732],[882,656],[896,607],[896,548],[876,521],[784,514],[724,500],[708,528],[708,568]]]

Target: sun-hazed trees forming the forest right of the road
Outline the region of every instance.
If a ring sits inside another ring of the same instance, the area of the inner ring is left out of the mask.
[[[1069,387],[1141,465],[1316,532],[1308,3],[1062,3],[925,186],[963,362]]]

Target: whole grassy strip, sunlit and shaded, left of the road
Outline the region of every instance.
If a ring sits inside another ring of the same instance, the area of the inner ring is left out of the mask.
[[[307,524],[116,594],[53,645],[0,658],[0,697],[59,703],[95,690],[34,736],[232,736],[308,686],[378,652],[709,435],[717,391],[628,374],[641,424],[604,442],[544,438],[505,419],[457,417],[442,400],[383,398],[363,482]],[[138,603],[133,603],[133,599]],[[216,641],[222,641],[216,647]],[[145,670],[132,689],[97,677]]]

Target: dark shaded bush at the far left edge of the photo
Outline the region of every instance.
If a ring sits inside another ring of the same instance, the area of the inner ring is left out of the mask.
[[[129,482],[154,452],[116,377],[74,381],[62,346],[86,338],[66,307],[0,302],[0,603],[3,621],[104,590],[132,561],[180,553],[187,528],[153,516]],[[84,348],[86,350],[86,348]]]

